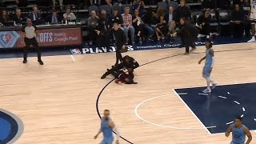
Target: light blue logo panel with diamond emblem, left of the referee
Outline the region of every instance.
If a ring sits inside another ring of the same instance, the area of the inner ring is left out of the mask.
[[[19,35],[16,31],[0,31],[0,48],[14,47]]]

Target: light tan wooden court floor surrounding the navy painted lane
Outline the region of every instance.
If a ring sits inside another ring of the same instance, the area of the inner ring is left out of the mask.
[[[256,44],[241,43],[214,46],[216,66],[213,77],[219,85],[256,82]],[[135,70],[138,85],[114,82],[102,92],[98,109],[109,109],[122,137],[135,144],[225,144],[224,134],[209,134],[174,94],[172,89],[205,86],[198,60],[205,48],[195,54],[178,55],[184,49],[127,52],[140,64],[159,58]],[[44,57],[44,66],[36,58],[22,64],[22,58],[0,60],[1,108],[16,114],[24,123],[17,144],[96,144],[99,128],[96,100],[111,76],[100,77],[114,64],[114,53]],[[164,96],[166,95],[166,96]],[[154,98],[159,96],[159,98]],[[161,97],[162,96],[162,97]],[[139,119],[134,110],[150,122],[173,126],[155,126]],[[228,108],[227,108],[228,109]],[[193,129],[197,127],[198,129]],[[252,131],[256,143],[256,132]],[[120,140],[120,143],[127,143]]]

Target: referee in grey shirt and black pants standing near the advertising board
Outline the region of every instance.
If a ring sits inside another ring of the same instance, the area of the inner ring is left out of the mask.
[[[41,50],[39,49],[38,41],[36,39],[36,36],[38,34],[37,27],[32,24],[32,21],[30,18],[26,19],[26,26],[22,27],[22,32],[23,32],[24,42],[26,44],[26,46],[23,49],[23,58],[24,58],[23,63],[27,62],[27,59],[26,59],[27,51],[30,45],[32,45],[35,48],[35,50],[37,50],[39,64],[43,65],[43,62],[41,60]]]

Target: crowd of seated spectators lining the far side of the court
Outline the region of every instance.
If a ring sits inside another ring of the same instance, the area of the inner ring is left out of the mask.
[[[26,1],[22,2],[26,4]],[[62,4],[62,2],[62,0],[59,0],[58,3]],[[166,0],[167,2],[169,1]],[[55,0],[53,3],[55,3]],[[230,32],[234,38],[242,38],[244,33],[246,36],[250,36],[249,0],[203,0],[201,5],[202,14],[198,14],[198,17],[191,16],[190,6],[186,5],[185,0],[177,1],[177,6],[158,6],[157,10],[152,7],[146,9],[147,3],[143,0],[135,0],[134,2],[132,0],[90,0],[89,4],[121,6],[127,3],[131,4],[131,6],[123,7],[122,10],[113,9],[111,12],[106,10],[90,11],[90,17],[86,20],[87,30],[90,35],[88,43],[90,45],[107,46],[114,42],[113,34],[111,34],[114,22],[118,22],[120,28],[125,31],[126,43],[134,44],[135,42],[150,42],[154,40],[173,42],[174,37],[172,35],[178,28],[182,27],[181,18],[186,18],[186,20],[195,23],[200,31],[198,37],[210,38],[213,31],[210,23],[213,21],[218,22],[222,10],[228,12],[226,21],[230,22]],[[34,24],[42,24],[45,22],[63,23],[65,21],[74,21],[77,17],[76,14],[72,13],[70,7],[67,7],[64,14],[59,15],[56,10],[52,10],[52,14],[42,18],[38,8],[33,7],[32,13],[27,18],[30,18]],[[7,14],[6,10],[2,10],[0,25],[10,25],[10,19],[14,21],[14,26],[21,25],[22,22],[26,21],[20,9],[16,9],[13,16]]]

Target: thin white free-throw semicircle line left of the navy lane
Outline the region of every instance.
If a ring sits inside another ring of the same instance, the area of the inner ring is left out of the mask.
[[[204,129],[204,128],[205,128],[205,126],[204,126],[204,127],[198,127],[198,128],[182,128],[182,127],[174,127],[174,126],[163,126],[163,125],[159,125],[159,124],[154,123],[154,122],[149,122],[149,121],[147,121],[146,119],[142,118],[142,117],[138,114],[138,107],[141,106],[143,103],[148,102],[148,101],[150,101],[150,100],[152,100],[152,99],[155,99],[155,98],[166,97],[166,96],[169,96],[169,95],[172,95],[172,94],[164,94],[164,95],[160,95],[160,96],[157,96],[157,97],[149,98],[149,99],[146,99],[146,100],[140,102],[140,103],[135,107],[135,109],[134,109],[135,115],[136,115],[139,119],[141,119],[142,121],[147,122],[147,123],[150,123],[150,124],[152,124],[152,125],[154,125],[154,126],[160,126],[160,127],[171,128],[171,129],[178,129],[178,130],[200,130],[200,129]],[[214,128],[214,127],[216,127],[216,126],[209,126],[209,127],[207,127],[207,128],[210,129],[210,128]]]

